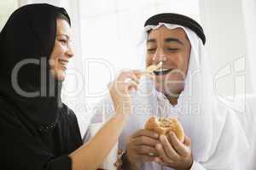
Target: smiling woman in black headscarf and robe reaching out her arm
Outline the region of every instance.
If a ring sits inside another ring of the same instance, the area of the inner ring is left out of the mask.
[[[116,114],[82,145],[77,118],[60,99],[73,57],[70,25],[64,8],[32,4],[17,9],[1,31],[1,169],[96,169],[131,114],[136,71],[121,73],[110,86]]]

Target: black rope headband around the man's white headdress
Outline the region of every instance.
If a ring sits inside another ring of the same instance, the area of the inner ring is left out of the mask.
[[[182,14],[174,14],[174,13],[155,14],[154,16],[146,20],[144,26],[148,26],[148,25],[156,26],[160,22],[177,24],[180,26],[188,27],[192,31],[195,31],[197,36],[201,38],[201,41],[203,42],[203,44],[206,43],[206,36],[202,27],[195,20],[189,18],[188,16],[185,16]]]

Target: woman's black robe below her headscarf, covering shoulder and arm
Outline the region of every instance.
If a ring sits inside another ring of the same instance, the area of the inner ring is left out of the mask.
[[[81,146],[77,118],[66,105],[55,127],[34,136],[20,122],[19,111],[0,100],[0,169],[71,170],[68,155]]]

